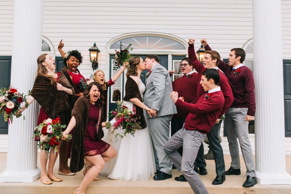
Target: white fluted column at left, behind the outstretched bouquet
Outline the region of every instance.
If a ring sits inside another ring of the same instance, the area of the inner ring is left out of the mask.
[[[37,57],[42,51],[43,0],[14,1],[11,84],[25,94],[32,89]],[[7,167],[0,182],[33,182],[40,177],[36,142],[38,104],[33,102],[8,128]]]

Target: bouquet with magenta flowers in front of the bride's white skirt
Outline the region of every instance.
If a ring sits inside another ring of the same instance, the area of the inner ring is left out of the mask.
[[[122,102],[123,101],[116,101],[117,108],[109,112],[109,116],[114,116],[114,119],[106,123],[106,129],[113,127],[111,134],[119,127],[124,129],[122,134],[115,135],[115,139],[117,139],[118,136],[123,138],[127,133],[133,135],[135,130],[141,129],[140,123],[136,122],[138,118],[134,113],[135,110],[129,109],[127,106],[123,105]]]

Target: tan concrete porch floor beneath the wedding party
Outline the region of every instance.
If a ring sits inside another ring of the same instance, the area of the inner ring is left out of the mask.
[[[6,153],[0,153],[0,173],[6,168]],[[231,158],[230,156],[224,156],[226,169],[229,168]],[[222,185],[212,185],[212,181],[215,178],[215,163],[213,160],[206,160],[208,174],[206,176],[200,176],[204,185],[206,186],[209,194],[222,194],[222,193],[241,193],[241,194],[266,194],[266,193],[280,193],[291,194],[291,185],[260,185],[256,184],[251,188],[244,188],[242,186],[246,179],[244,176],[246,167],[241,156],[241,172],[239,176],[226,176],[226,181]],[[38,167],[39,160],[38,160]],[[23,182],[0,182],[0,194],[38,194],[38,193],[73,193],[73,191],[82,182],[82,171],[78,172],[75,176],[61,176],[58,175],[59,159],[54,167],[54,174],[59,178],[62,178],[62,182],[53,182],[52,185],[44,185],[39,179],[32,183]],[[286,169],[291,174],[291,156],[286,156]],[[163,181],[154,181],[150,179],[148,182],[124,182],[119,180],[111,180],[106,176],[99,175],[100,180],[91,183],[87,189],[87,194],[90,193],[105,193],[105,194],[144,194],[144,193],[158,193],[158,194],[192,194],[193,191],[190,188],[188,182],[178,182],[174,180],[174,177],[179,176],[180,173],[176,169],[173,170],[173,178]]]

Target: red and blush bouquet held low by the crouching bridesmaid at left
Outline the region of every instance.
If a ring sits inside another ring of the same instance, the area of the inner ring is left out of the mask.
[[[49,158],[51,150],[55,155],[59,152],[58,145],[62,139],[62,129],[65,127],[66,125],[61,125],[60,118],[48,118],[35,127],[34,140],[39,141],[38,147],[41,150],[45,150],[47,158]],[[72,135],[68,135],[65,141],[68,142],[71,139]]]

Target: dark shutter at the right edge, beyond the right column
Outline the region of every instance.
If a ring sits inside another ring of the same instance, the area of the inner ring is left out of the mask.
[[[291,60],[283,60],[285,137],[291,137]]]

